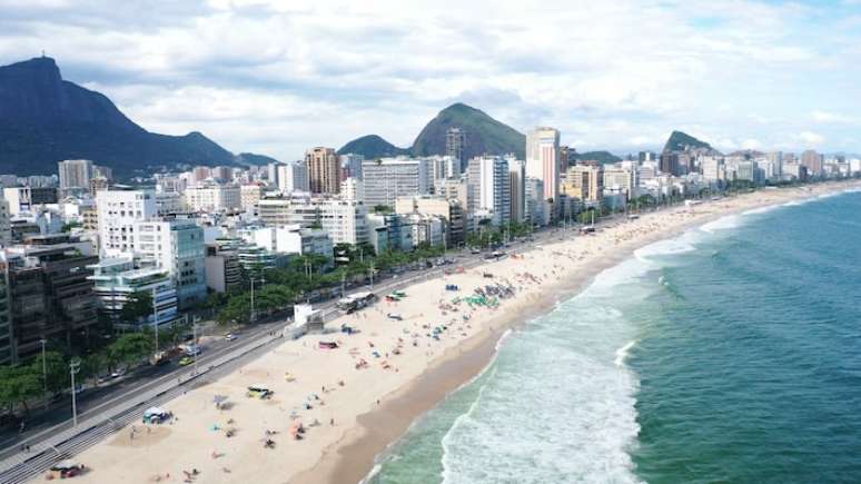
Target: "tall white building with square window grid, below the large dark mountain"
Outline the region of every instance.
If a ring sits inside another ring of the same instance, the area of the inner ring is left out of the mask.
[[[103,256],[135,251],[135,223],[158,215],[152,190],[102,190],[96,194],[99,247]]]

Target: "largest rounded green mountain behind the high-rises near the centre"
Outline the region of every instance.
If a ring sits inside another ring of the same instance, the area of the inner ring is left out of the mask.
[[[454,103],[436,115],[425,126],[413,144],[414,156],[445,155],[445,134],[448,128],[461,128],[466,132],[464,157],[469,159],[481,155],[516,154],[523,159],[526,150],[526,137],[514,128],[504,125],[484,111],[464,103]]]

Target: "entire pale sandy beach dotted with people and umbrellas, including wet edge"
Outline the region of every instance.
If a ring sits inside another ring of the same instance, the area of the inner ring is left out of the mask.
[[[76,456],[89,468],[76,481],[359,482],[415,418],[482,372],[507,329],[551,310],[636,248],[724,215],[858,186],[762,189],[620,219],[592,235],[558,231],[497,261],[454,266],[451,275],[409,286],[400,300],[379,294],[373,306],[327,324],[353,334],[286,340],[164,405],[172,419],[137,421]],[[273,394],[248,396],[253,385]],[[220,408],[216,395],[227,397]]]

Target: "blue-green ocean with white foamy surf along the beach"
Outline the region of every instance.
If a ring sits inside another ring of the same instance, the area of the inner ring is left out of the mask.
[[[637,250],[511,332],[367,482],[861,482],[861,192]]]

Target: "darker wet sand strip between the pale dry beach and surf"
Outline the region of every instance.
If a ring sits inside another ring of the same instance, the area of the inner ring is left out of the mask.
[[[446,353],[426,369],[422,375],[386,395],[386,403],[376,409],[362,414],[357,417],[357,424],[354,428],[347,431],[342,439],[324,450],[318,463],[305,472],[299,473],[290,483],[362,483],[373,476],[377,465],[377,458],[385,454],[407,433],[409,427],[428,411],[439,405],[445,398],[459,388],[469,385],[476,378],[481,377],[487,368],[493,365],[496,358],[499,344],[508,330],[517,330],[527,325],[532,319],[545,316],[554,310],[558,302],[575,297],[585,290],[601,273],[615,267],[622,261],[629,259],[634,253],[651,244],[661,240],[669,240],[679,237],[684,233],[701,227],[711,221],[733,216],[745,215],[751,210],[773,209],[784,206],[789,201],[814,200],[822,195],[840,195],[850,188],[859,188],[859,181],[837,181],[827,184],[828,187],[821,192],[815,188],[824,185],[813,186],[806,197],[793,197],[778,203],[735,207],[733,210],[721,211],[696,220],[681,224],[667,228],[666,231],[652,234],[636,241],[627,244],[617,254],[614,254],[608,260],[594,267],[587,275],[574,277],[554,288],[552,294],[543,297],[540,302],[540,308],[532,317],[519,319],[516,316],[509,317],[505,327],[493,330],[489,335],[485,333],[473,336],[469,340],[462,343],[461,346],[448,348]],[[790,188],[791,190],[793,188]],[[794,188],[798,190],[798,188]],[[788,190],[788,189],[784,189]],[[744,195],[755,195],[744,194]],[[743,196],[744,196],[743,195]],[[673,207],[680,209],[686,207]],[[672,210],[671,209],[671,210]],[[646,214],[646,215],[651,215]],[[479,266],[484,267],[484,265]],[[453,371],[453,367],[461,366]],[[451,373],[461,375],[459,378],[452,378]],[[428,388],[430,387],[430,388]],[[429,399],[429,401],[428,401]]]

